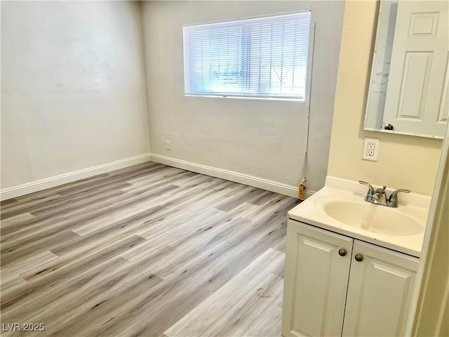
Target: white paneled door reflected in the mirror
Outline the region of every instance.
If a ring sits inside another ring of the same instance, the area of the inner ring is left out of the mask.
[[[384,124],[443,135],[448,121],[449,1],[398,1]]]

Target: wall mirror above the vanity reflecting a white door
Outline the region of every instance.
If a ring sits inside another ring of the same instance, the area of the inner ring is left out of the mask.
[[[380,1],[365,130],[443,138],[449,1]]]

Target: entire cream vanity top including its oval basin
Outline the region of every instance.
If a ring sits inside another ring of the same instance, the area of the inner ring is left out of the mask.
[[[419,258],[431,197],[403,194],[391,208],[365,196],[358,181],[327,176],[326,185],[288,211],[288,218]]]

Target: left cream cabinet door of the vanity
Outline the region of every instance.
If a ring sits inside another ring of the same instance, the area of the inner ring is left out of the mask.
[[[283,336],[341,336],[352,242],[288,220]]]

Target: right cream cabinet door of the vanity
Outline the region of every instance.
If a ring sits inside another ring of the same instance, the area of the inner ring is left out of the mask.
[[[358,240],[352,251],[343,336],[403,336],[418,259]]]

